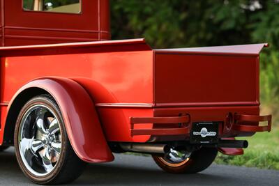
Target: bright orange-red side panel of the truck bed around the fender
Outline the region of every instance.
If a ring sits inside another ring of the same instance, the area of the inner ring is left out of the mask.
[[[149,136],[130,137],[130,116],[152,116],[153,104],[153,52],[139,50],[130,52],[128,48],[137,49],[137,45],[116,45],[116,42],[105,47],[106,42],[92,43],[98,49],[107,52],[91,52],[90,45],[84,47],[82,54],[59,54],[61,47],[50,49],[49,55],[1,57],[1,102],[10,102],[16,91],[27,82],[38,77],[67,77],[81,84],[91,95],[96,104],[131,105],[135,109],[116,109],[102,114],[102,125],[107,139],[116,141],[146,141]],[[35,47],[36,48],[36,47]],[[40,48],[40,47],[38,47]],[[81,49],[82,45],[67,48],[68,52]],[[125,49],[126,48],[126,49]],[[2,48],[3,53],[19,49],[21,52],[33,51],[22,47]],[[4,50],[7,49],[6,52]],[[109,50],[112,49],[112,50]],[[0,49],[1,50],[1,49]],[[112,52],[113,51],[113,52]],[[45,52],[41,47],[40,52]],[[17,53],[15,51],[15,53]],[[10,53],[12,54],[12,53]],[[148,107],[149,109],[141,109]],[[103,109],[100,109],[103,110]],[[112,109],[113,110],[113,109]],[[6,116],[3,116],[6,117]],[[124,118],[123,118],[124,117]],[[123,121],[123,122],[121,122]],[[151,127],[146,124],[144,127]],[[124,133],[123,135],[121,135]]]

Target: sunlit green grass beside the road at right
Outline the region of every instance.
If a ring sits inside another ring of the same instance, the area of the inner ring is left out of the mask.
[[[244,155],[228,156],[218,153],[215,162],[279,170],[279,127],[273,127],[271,132],[258,132],[253,137],[243,139],[249,142]]]

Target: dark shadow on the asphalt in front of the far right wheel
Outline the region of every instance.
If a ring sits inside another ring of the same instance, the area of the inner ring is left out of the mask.
[[[90,165],[73,185],[210,185],[229,182],[233,178],[206,173],[192,175],[169,174],[160,169],[144,169],[139,166]]]

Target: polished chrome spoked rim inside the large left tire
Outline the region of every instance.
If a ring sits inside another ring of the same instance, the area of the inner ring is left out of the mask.
[[[54,170],[61,141],[61,124],[49,107],[36,104],[24,113],[17,143],[22,162],[33,175],[46,176]]]

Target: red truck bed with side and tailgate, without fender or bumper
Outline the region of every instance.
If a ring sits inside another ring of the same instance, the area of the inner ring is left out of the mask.
[[[108,141],[161,140],[150,133],[160,128],[158,123],[133,125],[131,118],[186,115],[188,129],[164,133],[164,140],[188,139],[197,121],[219,122],[220,137],[252,135],[232,130],[230,114],[259,115],[259,52],[264,46],[158,50],[135,39],[1,47],[1,124],[24,84],[66,77],[93,99]],[[133,130],[148,132],[133,135]]]

